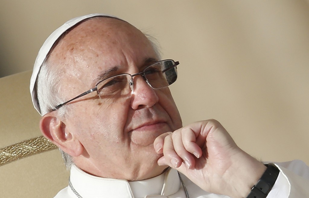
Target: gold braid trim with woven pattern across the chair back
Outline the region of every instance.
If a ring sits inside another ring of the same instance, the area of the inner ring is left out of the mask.
[[[56,149],[44,136],[28,139],[0,149],[0,166],[24,157]]]

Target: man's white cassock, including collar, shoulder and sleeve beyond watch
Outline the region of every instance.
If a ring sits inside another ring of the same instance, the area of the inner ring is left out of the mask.
[[[267,198],[309,198],[309,167],[300,160],[275,163],[279,176]],[[228,198],[203,191],[186,176],[180,174],[190,198]],[[75,191],[83,198],[185,198],[185,190],[178,172],[167,172],[147,180],[128,182],[96,177],[75,165],[70,172]],[[62,189],[55,198],[77,198],[70,187]]]

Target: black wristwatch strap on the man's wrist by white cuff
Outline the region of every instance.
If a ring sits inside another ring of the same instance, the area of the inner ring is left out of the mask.
[[[273,188],[280,171],[274,164],[265,164],[265,166],[267,167],[266,171],[256,185],[251,188],[247,198],[266,198]]]

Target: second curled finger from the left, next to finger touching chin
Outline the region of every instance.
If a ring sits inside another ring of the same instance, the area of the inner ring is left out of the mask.
[[[178,168],[182,164],[181,158],[175,152],[171,135],[167,135],[164,139],[163,156],[167,165],[172,168]]]

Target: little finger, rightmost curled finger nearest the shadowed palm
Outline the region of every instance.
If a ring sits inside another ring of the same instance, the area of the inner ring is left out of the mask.
[[[200,158],[202,156],[202,150],[196,143],[195,135],[196,134],[190,127],[184,127],[181,130],[181,139],[185,150],[193,154],[195,157]]]

